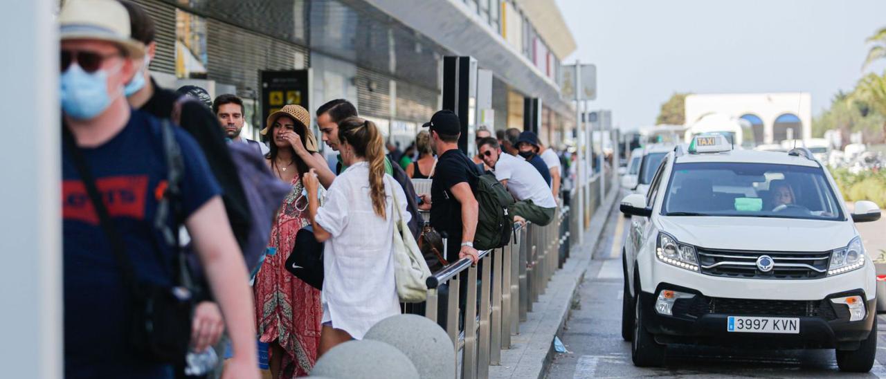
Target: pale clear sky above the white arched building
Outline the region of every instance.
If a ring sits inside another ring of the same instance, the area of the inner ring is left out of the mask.
[[[592,109],[652,125],[675,91],[812,93],[812,114],[854,87],[884,0],[556,0],[597,66]],[[875,66],[878,72],[883,66]]]

